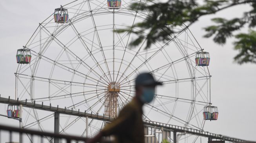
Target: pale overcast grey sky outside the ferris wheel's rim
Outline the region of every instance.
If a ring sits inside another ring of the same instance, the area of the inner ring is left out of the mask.
[[[0,1],[0,94],[4,97],[15,93],[16,50],[26,44],[38,23],[53,13],[60,4],[71,0],[1,0]],[[194,23],[190,30],[200,45],[210,52],[209,66],[212,75],[212,103],[218,106],[217,121],[207,121],[205,130],[232,137],[256,140],[256,64],[238,65],[233,57],[233,38],[223,46],[215,44],[211,38],[202,38],[202,27],[211,25],[211,18],[233,18],[242,16],[248,5],[232,7],[215,15],[204,16]],[[243,29],[242,32],[247,32]],[[4,106],[0,105],[5,114]],[[0,117],[0,123],[7,121]],[[9,122],[9,120],[8,120]],[[16,123],[18,125],[18,123]]]

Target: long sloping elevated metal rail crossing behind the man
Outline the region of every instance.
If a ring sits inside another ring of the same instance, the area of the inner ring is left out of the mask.
[[[31,103],[27,99],[24,101],[20,101],[18,99],[17,100],[10,99],[10,97],[3,98],[0,96],[0,103],[23,105],[24,107],[40,109],[40,110],[50,111],[50,112],[58,112],[60,114],[68,114],[68,115],[72,115],[72,116],[88,117],[91,119],[108,121],[108,122],[113,121],[113,118],[104,116],[104,114],[103,114],[103,116],[101,116],[98,114],[93,114],[92,112],[91,113],[88,113],[86,111],[80,112],[79,109],[78,109],[78,111],[74,111],[73,108],[71,108],[71,110],[70,110],[70,109],[67,109],[66,107],[64,109],[59,108],[58,106],[52,107],[51,104],[48,106],[48,105],[44,105],[43,102],[42,102],[42,104],[36,104],[35,101],[33,103]],[[228,136],[221,135],[221,134],[213,134],[213,133],[206,132],[203,130],[191,129],[191,128],[181,127],[181,126],[177,126],[177,125],[170,125],[170,124],[165,124],[165,123],[160,123],[160,122],[145,121],[145,122],[143,122],[143,124],[144,124],[144,126],[151,125],[151,126],[156,126],[156,127],[163,127],[164,129],[169,129],[169,130],[172,130],[175,132],[187,132],[188,134],[194,134],[194,135],[203,136],[203,137],[212,138],[212,139],[221,139],[221,140],[233,141],[233,142],[246,141],[243,139],[232,138],[232,137],[228,137]]]

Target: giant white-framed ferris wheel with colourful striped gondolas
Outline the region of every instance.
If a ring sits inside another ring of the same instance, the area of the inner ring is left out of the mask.
[[[163,86],[156,88],[153,102],[143,107],[143,120],[202,130],[205,120],[217,119],[217,112],[214,117],[209,112],[213,108],[209,53],[186,25],[169,24],[178,32],[170,35],[170,41],[156,41],[149,49],[145,49],[146,38],[130,48],[129,41],[136,35],[116,32],[132,30],[135,23],[151,16],[148,11],[130,9],[134,2],[150,4],[144,0],[76,0],[56,8],[18,50],[19,100],[116,118],[135,94],[136,76],[146,71]],[[25,108],[23,116],[25,129],[52,128],[53,113]],[[62,134],[75,131],[84,136],[89,130],[93,136],[103,127],[100,120],[89,120],[85,129],[82,117],[63,115],[60,119]]]

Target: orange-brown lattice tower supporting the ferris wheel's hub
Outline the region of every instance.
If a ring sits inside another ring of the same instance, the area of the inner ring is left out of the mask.
[[[117,98],[120,92],[120,83],[111,82],[106,89],[105,95],[105,115],[110,118],[117,116]]]

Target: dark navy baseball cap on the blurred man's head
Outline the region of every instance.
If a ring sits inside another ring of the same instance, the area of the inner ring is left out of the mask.
[[[162,85],[161,82],[157,82],[153,75],[150,73],[141,73],[137,76],[135,80],[136,86],[151,86],[151,85]]]

